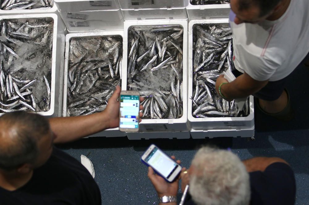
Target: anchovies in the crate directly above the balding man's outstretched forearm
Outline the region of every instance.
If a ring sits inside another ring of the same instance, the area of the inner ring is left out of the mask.
[[[69,54],[67,115],[103,111],[121,85],[122,37],[74,37]]]

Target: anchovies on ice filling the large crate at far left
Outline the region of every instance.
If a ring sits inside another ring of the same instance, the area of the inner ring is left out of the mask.
[[[53,19],[2,19],[0,30],[0,112],[48,111]]]

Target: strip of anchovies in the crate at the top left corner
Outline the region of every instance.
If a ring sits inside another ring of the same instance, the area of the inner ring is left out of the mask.
[[[52,0],[1,0],[2,10],[39,9],[53,7]]]

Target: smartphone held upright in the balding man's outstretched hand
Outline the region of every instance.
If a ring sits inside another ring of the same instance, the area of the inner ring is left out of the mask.
[[[120,92],[119,130],[121,132],[138,132],[139,129],[139,92]]]

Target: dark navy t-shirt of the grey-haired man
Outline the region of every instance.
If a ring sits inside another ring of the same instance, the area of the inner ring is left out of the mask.
[[[264,172],[250,172],[250,205],[293,205],[295,203],[296,184],[291,167],[276,162]],[[207,204],[207,202],[205,202]],[[185,205],[195,205],[191,196]]]

